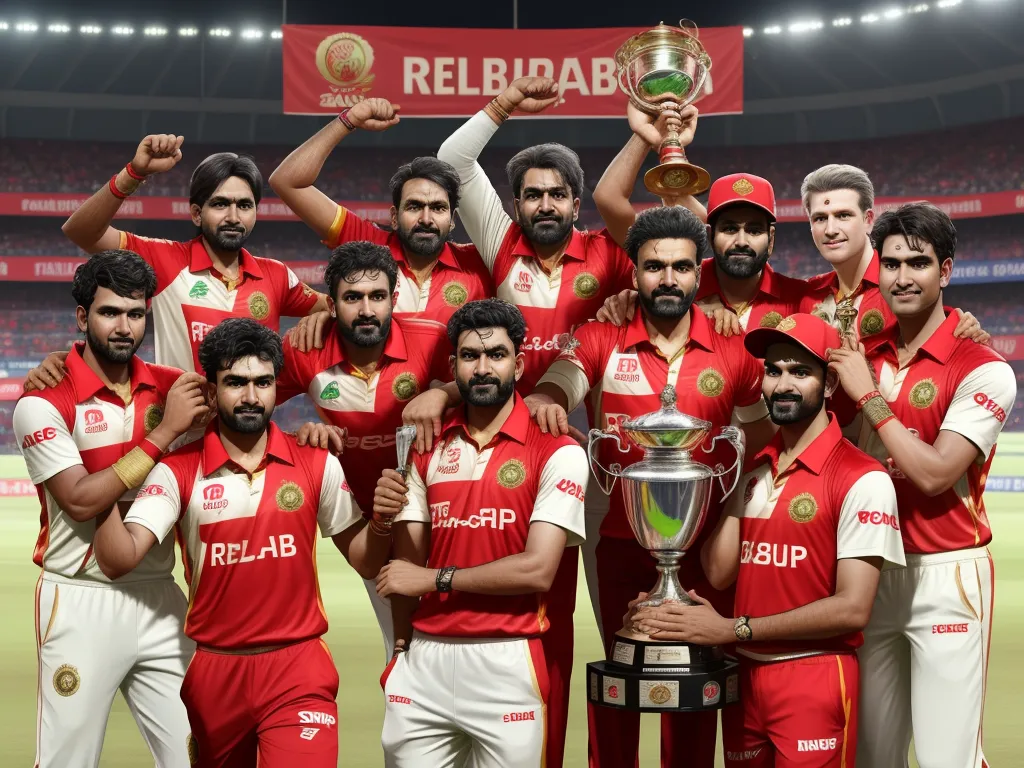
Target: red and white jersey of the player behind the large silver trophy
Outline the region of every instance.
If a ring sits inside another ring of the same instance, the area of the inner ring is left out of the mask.
[[[703,312],[691,308],[690,338],[671,360],[651,343],[640,310],[621,328],[610,323],[585,325],[541,381],[565,392],[570,411],[586,397],[590,423],[614,432],[621,431],[624,422],[659,410],[662,390],[673,384],[679,410],[711,422],[715,434],[729,424],[767,418],[761,396],[763,375],[764,367],[746,351],[741,336],[726,338],[715,333]],[[630,445],[625,437],[623,445]],[[613,463],[628,467],[640,461],[643,452],[630,446],[623,454],[605,440],[598,456],[605,467]],[[711,466],[722,461],[728,467],[734,461],[731,449],[724,447],[710,454],[697,449],[692,458]],[[709,534],[717,523],[717,515],[712,517],[705,523]],[[618,484],[612,490],[601,536],[633,538]]]

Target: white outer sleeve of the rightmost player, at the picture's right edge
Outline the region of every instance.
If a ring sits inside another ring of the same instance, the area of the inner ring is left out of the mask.
[[[1017,377],[1001,360],[979,366],[956,387],[939,429],[964,435],[988,456],[1017,397]]]

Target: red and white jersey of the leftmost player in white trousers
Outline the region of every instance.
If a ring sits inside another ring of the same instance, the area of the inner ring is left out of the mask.
[[[22,396],[14,408],[14,433],[42,507],[33,561],[68,579],[109,582],[92,553],[96,521],[73,520],[44,483],[78,465],[100,472],[138,445],[160,424],[167,390],[181,372],[132,357],[131,401],[125,403],[82,358],[84,348],[81,342],[72,347],[65,361],[68,375],[59,384]],[[125,492],[121,503],[130,504],[136,493]],[[168,540],[119,581],[166,579],[173,567],[174,542]]]

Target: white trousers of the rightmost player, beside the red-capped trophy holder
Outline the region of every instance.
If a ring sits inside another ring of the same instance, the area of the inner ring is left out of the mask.
[[[857,768],[982,768],[995,571],[987,548],[884,570],[860,659]]]

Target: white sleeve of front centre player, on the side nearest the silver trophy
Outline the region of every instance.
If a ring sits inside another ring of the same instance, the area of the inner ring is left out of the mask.
[[[590,465],[580,445],[563,445],[551,455],[541,472],[530,523],[550,522],[565,529],[565,546],[577,547],[587,538],[584,500]]]

